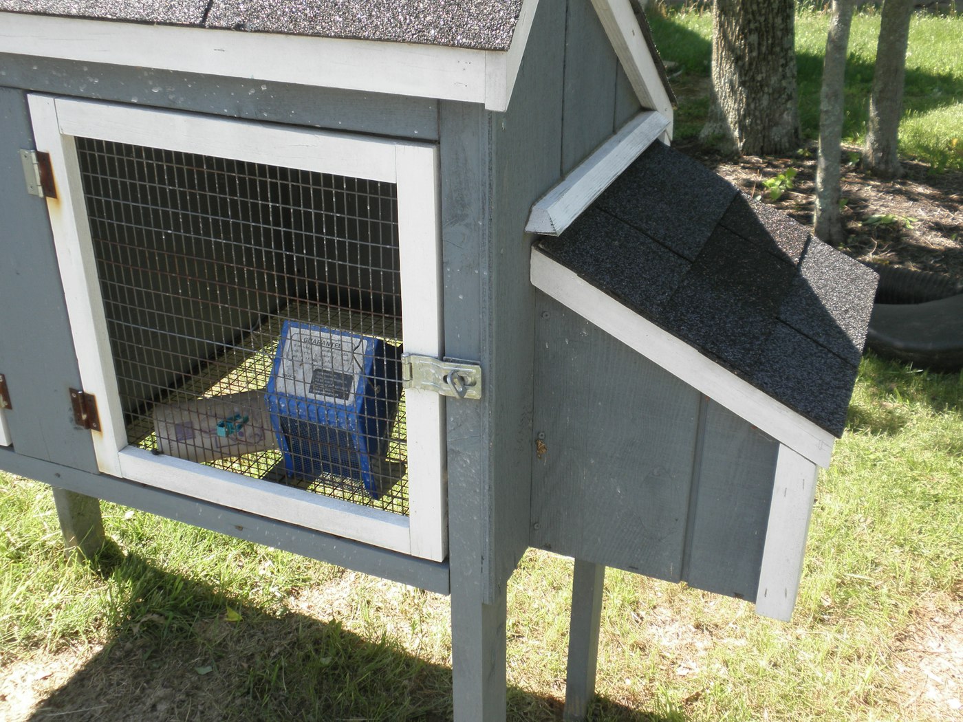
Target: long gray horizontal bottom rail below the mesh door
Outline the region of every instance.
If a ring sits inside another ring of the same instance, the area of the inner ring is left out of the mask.
[[[400,581],[439,594],[447,594],[449,590],[448,564],[377,549],[350,539],[183,497],[134,481],[58,466],[7,449],[0,450],[0,469],[54,484],[77,494],[132,506],[178,522],[320,559],[363,574]]]

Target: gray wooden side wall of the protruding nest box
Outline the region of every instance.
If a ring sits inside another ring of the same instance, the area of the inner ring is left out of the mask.
[[[532,545],[754,600],[778,443],[558,301],[537,309]]]

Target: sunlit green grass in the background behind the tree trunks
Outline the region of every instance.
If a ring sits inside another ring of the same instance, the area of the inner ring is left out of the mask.
[[[796,15],[799,116],[803,137],[819,135],[822,54],[827,13]],[[665,60],[683,67],[673,80],[680,95],[676,137],[697,135],[708,111],[706,90],[712,59],[712,14],[683,9],[651,16],[653,34]],[[844,140],[866,136],[879,15],[853,18],[846,66]],[[963,15],[914,15],[906,59],[900,154],[919,158],[934,170],[963,169]]]

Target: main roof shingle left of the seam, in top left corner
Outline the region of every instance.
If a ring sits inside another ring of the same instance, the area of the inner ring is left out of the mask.
[[[207,0],[0,0],[0,11],[199,25]]]

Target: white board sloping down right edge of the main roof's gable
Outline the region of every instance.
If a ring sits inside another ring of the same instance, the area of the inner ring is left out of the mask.
[[[642,108],[659,111],[667,117],[671,136],[672,101],[665,91],[648,43],[642,36],[642,29],[638,27],[631,0],[591,1]]]

